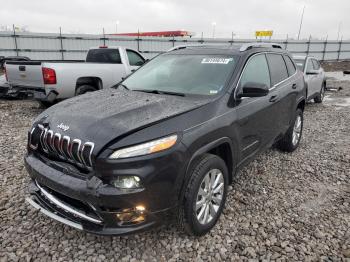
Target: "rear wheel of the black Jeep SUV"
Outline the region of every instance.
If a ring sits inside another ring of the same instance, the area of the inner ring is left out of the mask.
[[[300,120],[300,122],[298,119]],[[295,149],[297,149],[303,133],[303,125],[304,125],[303,111],[300,108],[298,108],[297,111],[295,112],[293,123],[289,127],[284,137],[282,137],[282,139],[278,141],[277,147],[280,150],[285,152],[293,152]],[[299,132],[297,132],[297,129],[299,129]],[[296,132],[295,135],[297,135],[297,138],[294,137],[294,132]]]

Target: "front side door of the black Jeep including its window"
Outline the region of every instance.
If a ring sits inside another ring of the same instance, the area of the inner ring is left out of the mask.
[[[265,54],[253,55],[247,61],[236,87],[236,94],[248,82],[272,86]],[[267,96],[242,98],[238,101],[237,131],[241,142],[242,161],[255,155],[273,140],[279,119],[277,99],[278,91],[271,90]]]

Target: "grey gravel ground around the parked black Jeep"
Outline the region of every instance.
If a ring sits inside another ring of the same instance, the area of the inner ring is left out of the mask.
[[[23,154],[41,111],[0,100],[0,261],[350,261],[350,82],[307,106],[296,152],[271,149],[240,172],[224,215],[201,238],[171,224],[100,237],[34,211]]]

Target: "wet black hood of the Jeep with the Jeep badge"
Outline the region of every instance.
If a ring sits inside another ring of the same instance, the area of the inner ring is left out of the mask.
[[[37,122],[47,123],[62,135],[95,143],[97,153],[111,140],[209,101],[109,88],[52,106],[38,116]]]

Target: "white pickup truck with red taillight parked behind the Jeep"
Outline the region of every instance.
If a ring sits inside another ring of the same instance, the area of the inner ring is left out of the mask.
[[[8,95],[20,94],[40,101],[44,106],[109,88],[117,84],[146,59],[137,51],[124,47],[91,48],[85,61],[8,61],[5,74]]]

